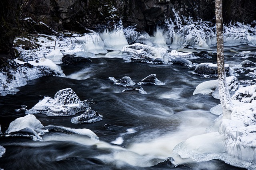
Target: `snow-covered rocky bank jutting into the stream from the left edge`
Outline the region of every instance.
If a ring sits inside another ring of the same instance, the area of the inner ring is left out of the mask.
[[[16,60],[18,61],[18,60]],[[6,61],[6,67],[0,69],[0,96],[16,94],[20,86],[25,86],[27,81],[42,76],[62,76],[63,71],[49,59],[42,58],[38,61],[20,62]]]

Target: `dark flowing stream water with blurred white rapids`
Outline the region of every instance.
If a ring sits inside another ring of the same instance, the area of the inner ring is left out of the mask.
[[[250,46],[228,47],[225,49],[226,63],[233,66],[245,59],[232,57],[236,51],[255,51]],[[200,55],[199,53],[195,53]],[[195,59],[192,63],[216,63],[216,56],[210,59]],[[250,58],[255,62],[256,59]],[[0,158],[0,169],[170,169],[174,165],[162,163],[173,157],[175,169],[239,169],[220,160],[193,162],[180,159],[172,149],[180,142],[206,133],[217,115],[210,108],[220,103],[211,95],[192,95],[196,86],[206,80],[192,74],[194,68],[181,65],[125,63],[122,59],[95,58],[92,63],[77,63],[62,66],[63,77],[42,77],[31,80],[18,88],[15,95],[0,97],[0,125],[5,132],[11,121],[25,116],[16,112],[21,105],[32,108],[44,96],[64,88],[72,88],[81,100],[93,99],[92,109],[103,115],[103,120],[91,124],[73,124],[68,117],[48,117],[36,114],[46,125],[71,128],[87,128],[100,138],[91,141],[81,135],[49,132],[42,136],[44,142],[21,137],[2,137],[0,145],[6,153]],[[108,77],[120,79],[129,76],[134,82],[150,74],[156,74],[165,85],[142,85],[147,94],[138,91],[122,92],[124,87],[116,86]],[[250,80],[245,73],[239,80]],[[76,116],[78,116],[78,113]],[[156,166],[157,165],[157,166]]]

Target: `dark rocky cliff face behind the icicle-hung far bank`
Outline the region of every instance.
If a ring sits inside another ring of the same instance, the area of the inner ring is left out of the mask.
[[[43,21],[54,29],[84,31],[113,27],[120,19],[124,26],[136,25],[150,32],[165,19],[214,20],[214,0],[25,0],[23,17]],[[223,0],[224,21],[256,20],[255,0]],[[183,16],[183,17],[182,17]],[[78,23],[79,22],[79,23]]]

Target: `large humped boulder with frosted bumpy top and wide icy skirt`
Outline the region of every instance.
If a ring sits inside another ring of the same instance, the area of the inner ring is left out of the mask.
[[[71,88],[58,91],[54,99],[44,97],[26,114],[42,113],[48,116],[70,116],[90,108],[86,101],[81,101]]]

